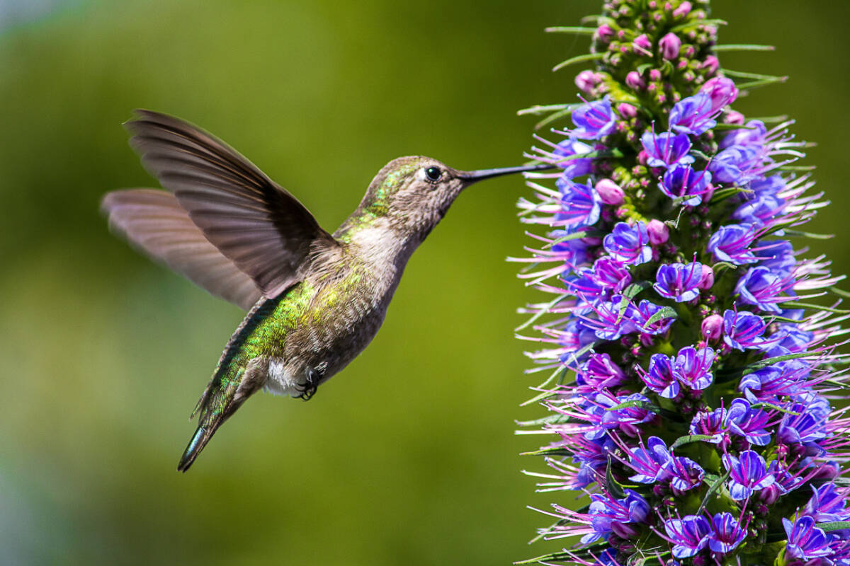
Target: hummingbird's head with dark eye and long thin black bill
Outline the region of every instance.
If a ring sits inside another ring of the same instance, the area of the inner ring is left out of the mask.
[[[399,157],[378,171],[360,207],[388,217],[393,227],[405,233],[424,236],[442,220],[457,195],[474,182],[551,167],[544,164],[457,171],[430,157]]]

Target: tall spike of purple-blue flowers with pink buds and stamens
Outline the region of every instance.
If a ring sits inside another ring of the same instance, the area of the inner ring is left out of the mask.
[[[825,396],[844,293],[791,244],[824,203],[791,122],[731,108],[771,78],[736,84],[751,75],[720,67],[718,23],[707,0],[608,0],[562,30],[592,32],[575,61],[597,64],[530,154],[557,169],[519,202],[548,230],[520,277],[552,298],[523,310],[553,372],[549,416],[523,424],[556,437],[540,489],[590,503],[544,512],[542,537],[581,538],[529,562],[850,564],[850,419]]]

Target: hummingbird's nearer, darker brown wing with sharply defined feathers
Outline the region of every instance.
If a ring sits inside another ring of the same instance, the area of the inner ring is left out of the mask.
[[[218,250],[275,298],[311,251],[334,247],[309,210],[224,142],[172,116],[137,110],[130,145]]]

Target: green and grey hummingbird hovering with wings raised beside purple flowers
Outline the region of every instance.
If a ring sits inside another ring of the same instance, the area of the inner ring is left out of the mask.
[[[125,126],[166,190],[107,193],[101,210],[111,229],[247,311],[190,417],[199,415],[178,463],[183,472],[259,389],[308,400],[360,355],[407,261],[464,188],[551,168],[457,171],[429,157],[399,157],[331,234],[286,189],[200,128],[150,110],[137,110]]]

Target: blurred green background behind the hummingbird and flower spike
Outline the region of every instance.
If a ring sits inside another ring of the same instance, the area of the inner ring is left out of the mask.
[[[547,518],[513,435],[536,384],[513,339],[534,298],[506,255],[524,185],[476,186],[411,261],[387,322],[303,403],[257,395],[189,474],[174,468],[234,306],[137,255],[99,199],[153,181],[120,126],[136,107],[223,137],[336,227],[388,160],[519,164],[531,104],[571,101],[586,39],[544,34],[599,2],[0,0],[0,563],[507,564]],[[791,81],[741,99],[789,113],[847,227],[847,3],[715,3],[738,70]],[[837,272],[850,239],[815,242]],[[570,502],[572,496],[562,496]]]

